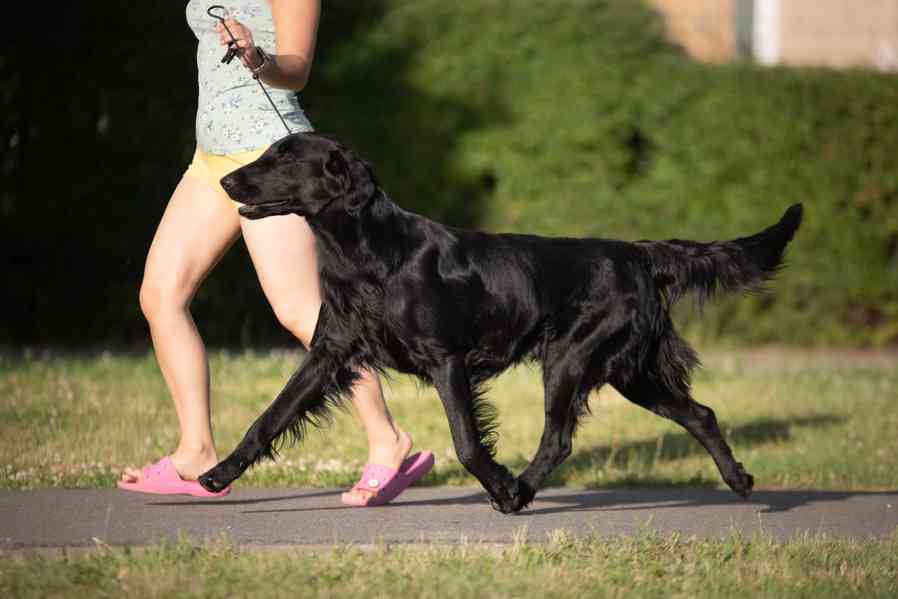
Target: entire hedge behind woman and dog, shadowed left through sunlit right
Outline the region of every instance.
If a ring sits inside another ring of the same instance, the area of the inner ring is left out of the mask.
[[[102,4],[0,93],[29,132],[2,158],[14,342],[146,339],[136,290],[192,150],[193,40],[182,6]],[[711,240],[804,202],[769,293],[681,321],[714,341],[898,343],[898,78],[698,64],[663,29],[632,0],[325,2],[302,100],[397,202],[456,225]],[[288,340],[241,249],[194,312],[211,343]]]

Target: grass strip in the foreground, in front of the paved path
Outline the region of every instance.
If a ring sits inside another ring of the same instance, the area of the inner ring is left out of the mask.
[[[895,597],[898,534],[776,543],[642,535],[542,544],[247,551],[182,541],[0,559],[0,595],[88,597]]]

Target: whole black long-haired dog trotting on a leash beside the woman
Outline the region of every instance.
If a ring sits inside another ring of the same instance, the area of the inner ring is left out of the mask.
[[[678,422],[742,497],[754,481],[709,408],[689,394],[698,359],[669,312],[683,294],[756,285],[780,267],[801,222],[733,241],[639,241],[490,235],[445,227],[391,202],[367,163],[317,134],[290,135],[222,179],[240,214],[304,216],[315,234],[322,307],[311,351],[223,462],[200,477],[220,490],[285,432],[295,440],[345,398],[359,368],[392,368],[436,386],[458,458],[493,506],[526,506],[571,452],[593,389]],[[545,428],[515,478],[493,460],[481,385],[525,359],[542,363]]]

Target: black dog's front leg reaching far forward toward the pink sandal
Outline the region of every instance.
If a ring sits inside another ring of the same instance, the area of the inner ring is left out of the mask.
[[[200,484],[209,491],[220,491],[259,459],[271,457],[273,444],[288,430],[298,440],[311,414],[320,416],[328,409],[328,401],[339,399],[351,389],[356,375],[344,363],[327,347],[313,345],[303,365],[253,423],[237,448],[200,476]]]

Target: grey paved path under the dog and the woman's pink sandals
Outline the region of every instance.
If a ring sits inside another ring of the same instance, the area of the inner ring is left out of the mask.
[[[339,490],[239,489],[222,499],[117,489],[0,491],[0,550],[145,545],[228,536],[244,546],[376,542],[539,541],[575,536],[713,537],[763,531],[863,538],[898,529],[898,491],[757,491],[742,501],[707,489],[546,489],[504,516],[479,488],[416,488],[379,508],[340,505]]]

